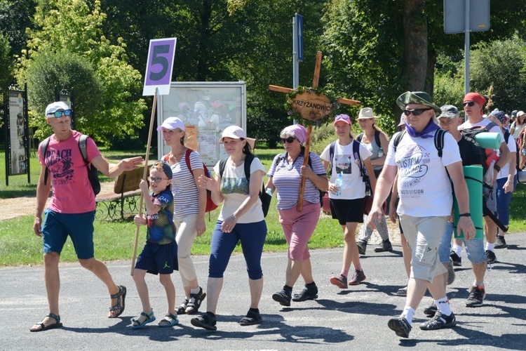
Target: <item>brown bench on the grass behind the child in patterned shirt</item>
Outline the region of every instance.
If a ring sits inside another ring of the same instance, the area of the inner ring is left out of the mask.
[[[120,215],[124,220],[124,214],[138,213],[137,206],[141,191],[139,183],[144,173],[144,166],[133,171],[124,171],[115,179],[114,192],[98,194],[95,197],[97,209],[95,218],[97,220],[115,220]]]

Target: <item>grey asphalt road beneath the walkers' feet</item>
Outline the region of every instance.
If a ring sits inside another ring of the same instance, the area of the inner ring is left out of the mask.
[[[340,234],[340,233],[337,233]],[[508,249],[497,250],[499,263],[487,272],[487,297],[483,307],[467,308],[464,300],[473,277],[464,265],[448,289],[458,324],[453,329],[422,331],[422,312],[431,303],[426,296],[414,317],[409,339],[401,339],[387,328],[387,321],[400,314],[405,298],[394,295],[407,279],[401,248],[391,253],[374,253],[374,246],[362,256],[367,279],[363,284],[339,290],[329,278],[338,273],[342,249],[312,251],[313,272],[318,284],[317,300],[283,307],[272,300],[285,279],[285,253],[265,253],[262,259],[264,291],[259,310],[263,322],[240,326],[248,310],[250,294],[243,256],[233,256],[225,273],[217,309],[217,331],[196,329],[189,315],[180,316],[173,328],[159,328],[156,322],[132,330],[130,319],[139,314],[140,300],[130,277],[130,262],[109,263],[118,284],[128,287],[126,310],[117,319],[107,319],[109,296],[93,274],[79,264],[60,266],[62,287],[60,315],[64,328],[30,333],[29,328],[47,313],[43,267],[0,269],[0,350],[386,350],[412,347],[414,350],[526,350],[526,234],[508,234]],[[195,258],[198,277],[205,286],[208,257]],[[173,278],[177,305],[182,300],[178,273]],[[160,319],[166,310],[166,296],[158,279],[147,279],[150,298]],[[295,286],[299,292],[301,278]],[[201,307],[205,311],[205,304]]]

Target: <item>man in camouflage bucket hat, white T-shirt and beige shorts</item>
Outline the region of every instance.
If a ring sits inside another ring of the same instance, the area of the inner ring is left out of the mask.
[[[442,156],[435,145],[435,134],[440,129],[436,124],[436,113],[441,112],[440,108],[431,102],[428,93],[422,91],[407,91],[398,97],[396,103],[405,114],[407,133],[396,149],[393,143],[396,138],[391,138],[367,225],[374,228],[374,219],[382,216],[382,204],[398,172],[400,202],[397,213],[412,251],[411,273],[404,310],[400,317],[390,319],[387,325],[396,335],[408,338],[414,312],[427,289],[438,312],[421,324],[420,329],[442,329],[457,324],[440,279],[433,279],[446,272],[438,257],[438,246],[452,211],[452,185],[460,211],[457,229],[464,232],[466,239],[471,239],[475,236],[475,227],[469,213],[468,188],[457,142],[452,135],[445,133]]]

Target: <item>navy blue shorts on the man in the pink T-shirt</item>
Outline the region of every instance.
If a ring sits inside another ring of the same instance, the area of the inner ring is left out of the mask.
[[[58,213],[47,208],[43,214],[44,253],[56,252],[60,255],[69,235],[73,241],[76,257],[79,260],[88,260],[94,257],[93,220],[95,220],[95,211]]]

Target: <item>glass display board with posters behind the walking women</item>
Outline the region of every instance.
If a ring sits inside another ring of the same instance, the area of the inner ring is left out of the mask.
[[[159,96],[158,125],[168,117],[182,120],[184,143],[201,154],[206,166],[227,157],[219,143],[227,126],[246,131],[246,85],[236,82],[172,82],[170,94]],[[159,159],[170,152],[159,133]]]

